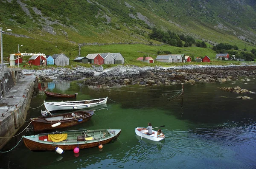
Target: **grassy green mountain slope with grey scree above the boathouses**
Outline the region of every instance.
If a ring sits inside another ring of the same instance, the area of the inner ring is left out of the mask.
[[[3,36],[5,55],[23,43],[29,52],[70,55],[79,44],[148,44],[153,27],[211,45],[256,44],[255,0],[1,0],[0,10],[0,26],[13,30]]]

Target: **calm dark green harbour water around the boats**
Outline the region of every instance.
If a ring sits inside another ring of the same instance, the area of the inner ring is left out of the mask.
[[[256,94],[253,100],[240,100],[235,93],[218,87],[235,87],[256,92],[256,80],[184,85],[183,107],[180,97],[168,99],[181,85],[129,86],[113,89],[93,88],[79,82],[45,84],[57,93],[79,93],[77,100],[109,97],[107,107],[95,107],[91,121],[64,130],[86,128],[122,129],[119,139],[98,147],[80,149],[59,155],[56,152],[32,152],[21,141],[15,149],[1,153],[2,168],[75,169],[75,168],[256,168]],[[139,89],[138,89],[139,88]],[[146,90],[145,90],[146,89]],[[49,89],[48,89],[49,90]],[[176,95],[177,96],[177,95]],[[39,107],[46,98],[40,91],[30,107]],[[115,102],[114,102],[115,101]],[[41,109],[29,109],[29,117],[39,116]],[[59,112],[60,113],[60,112]],[[26,120],[28,120],[28,118]],[[161,142],[141,140],[135,127],[162,128],[166,138]],[[28,125],[27,123],[25,127]],[[24,128],[25,128],[24,127]],[[23,135],[32,135],[30,125]],[[12,149],[21,135],[13,138],[1,151]]]

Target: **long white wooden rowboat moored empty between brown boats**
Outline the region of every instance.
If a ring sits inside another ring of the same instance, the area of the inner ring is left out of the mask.
[[[54,110],[76,110],[76,109],[85,109],[87,107],[95,107],[102,104],[106,104],[107,100],[108,100],[108,97],[103,99],[80,100],[80,101],[58,101],[58,102],[44,101],[44,107],[49,112]]]

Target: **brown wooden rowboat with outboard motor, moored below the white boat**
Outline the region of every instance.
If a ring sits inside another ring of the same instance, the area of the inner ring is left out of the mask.
[[[32,121],[31,123],[35,132],[55,130],[84,123],[85,121],[89,121],[92,118],[94,111],[84,110],[51,116],[47,116],[47,114],[51,114],[47,111],[43,112],[41,110],[41,113],[43,116],[30,119]]]

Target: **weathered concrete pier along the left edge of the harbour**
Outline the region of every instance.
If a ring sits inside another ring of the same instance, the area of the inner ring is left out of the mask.
[[[5,96],[2,85],[0,92],[0,149],[25,124],[31,98],[38,87],[35,75],[19,79],[19,73],[23,75],[20,68],[5,68]]]

